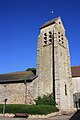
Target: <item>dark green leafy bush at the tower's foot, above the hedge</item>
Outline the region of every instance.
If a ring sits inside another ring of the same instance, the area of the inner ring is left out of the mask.
[[[56,106],[53,95],[44,95],[43,97],[38,97],[36,100],[36,105],[53,105]]]

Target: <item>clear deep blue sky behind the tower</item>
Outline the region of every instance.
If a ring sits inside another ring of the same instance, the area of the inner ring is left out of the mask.
[[[39,28],[58,16],[66,29],[71,66],[79,66],[79,12],[80,0],[0,0],[0,74],[35,68]]]

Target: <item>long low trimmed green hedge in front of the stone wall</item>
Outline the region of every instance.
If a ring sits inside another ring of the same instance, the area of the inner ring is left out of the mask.
[[[53,105],[22,105],[22,104],[7,104],[6,105],[6,113],[27,113],[27,114],[49,114],[52,112],[59,111]],[[0,113],[3,112],[3,105],[0,104]]]

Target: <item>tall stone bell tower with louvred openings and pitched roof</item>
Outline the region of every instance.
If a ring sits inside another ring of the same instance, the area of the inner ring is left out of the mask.
[[[61,111],[73,108],[69,47],[60,17],[40,27],[37,75],[37,96],[53,94]]]

